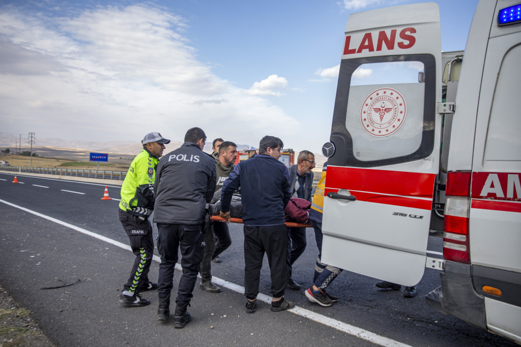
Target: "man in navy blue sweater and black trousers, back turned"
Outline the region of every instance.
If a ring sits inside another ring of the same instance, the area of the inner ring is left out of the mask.
[[[264,136],[259,153],[241,161],[222,186],[220,216],[230,220],[233,192],[241,188],[244,222],[244,295],[246,313],[257,309],[257,295],[264,253],[268,256],[273,296],[271,311],[291,310],[295,304],[284,299],[288,282],[286,265],[288,234],[284,207],[291,197],[289,173],[279,161],[280,138]]]

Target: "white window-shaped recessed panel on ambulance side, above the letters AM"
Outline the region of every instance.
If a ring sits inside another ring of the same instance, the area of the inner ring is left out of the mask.
[[[501,64],[490,111],[483,168],[521,171],[521,45],[510,49]]]

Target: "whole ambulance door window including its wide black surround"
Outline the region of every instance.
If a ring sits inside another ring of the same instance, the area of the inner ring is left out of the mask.
[[[343,60],[331,128],[337,149],[330,163],[363,168],[428,157],[435,109],[432,55]]]

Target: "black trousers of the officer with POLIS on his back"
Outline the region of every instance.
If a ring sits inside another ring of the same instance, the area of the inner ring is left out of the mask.
[[[193,297],[197,266],[203,260],[205,242],[202,225],[157,224],[157,230],[157,249],[161,256],[157,291],[163,297],[170,294],[173,288],[173,271],[178,260],[177,251],[180,248],[183,274],[179,279],[176,300],[181,306],[190,302]]]

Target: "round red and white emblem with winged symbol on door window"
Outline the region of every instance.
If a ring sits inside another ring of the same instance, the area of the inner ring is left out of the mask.
[[[389,136],[402,126],[406,111],[407,105],[400,92],[393,88],[380,88],[364,100],[360,122],[370,135]]]

